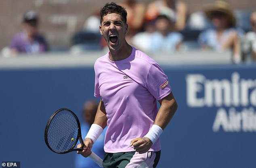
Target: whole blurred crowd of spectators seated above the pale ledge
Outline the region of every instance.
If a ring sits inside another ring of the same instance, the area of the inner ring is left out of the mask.
[[[154,0],[147,4],[123,0],[120,4],[128,12],[126,40],[145,53],[230,50],[234,63],[256,61],[254,11],[239,13],[220,0],[204,5],[192,14],[182,0]],[[38,33],[39,18],[37,12],[25,13],[22,31],[13,36],[1,55],[11,57],[21,53],[36,55],[50,52],[47,39]],[[243,24],[244,20],[250,20],[250,25]],[[87,18],[84,29],[74,33],[69,51],[104,49],[106,44],[99,33],[99,23],[98,13]]]

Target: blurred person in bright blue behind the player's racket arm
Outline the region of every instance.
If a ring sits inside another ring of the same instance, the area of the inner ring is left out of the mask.
[[[86,137],[91,125],[94,122],[94,118],[98,109],[98,104],[89,100],[84,103],[83,107],[83,121],[81,122],[81,131],[82,137]],[[97,154],[99,157],[104,157],[104,137],[105,137],[106,129],[104,129],[103,133],[99,136],[97,141],[93,144],[93,152]],[[99,168],[98,164],[95,163],[90,158],[84,158],[80,154],[76,154],[75,157],[75,168]]]

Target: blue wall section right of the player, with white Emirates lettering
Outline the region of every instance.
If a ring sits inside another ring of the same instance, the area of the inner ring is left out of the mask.
[[[165,71],[178,111],[161,136],[166,162],[159,167],[167,162],[173,168],[254,167],[255,65],[169,67]]]

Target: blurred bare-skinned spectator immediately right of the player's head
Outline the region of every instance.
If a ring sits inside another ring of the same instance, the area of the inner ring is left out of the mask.
[[[120,5],[127,11],[129,31],[126,34],[126,40],[130,41],[132,36],[142,29],[146,7],[143,3],[136,2],[136,0],[123,0]]]

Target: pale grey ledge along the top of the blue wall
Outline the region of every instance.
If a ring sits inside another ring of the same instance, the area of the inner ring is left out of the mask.
[[[15,57],[1,57],[0,69],[8,68],[59,68],[93,66],[94,61],[105,55],[107,51],[88,51],[79,54],[44,53],[40,55],[18,55]],[[231,52],[192,50],[175,53],[149,54],[160,65],[193,65],[193,64],[229,64]]]

